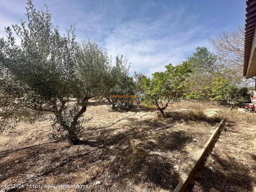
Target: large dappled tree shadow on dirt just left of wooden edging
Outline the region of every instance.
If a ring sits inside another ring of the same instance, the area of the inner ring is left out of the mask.
[[[130,131],[104,138],[97,135],[94,141],[88,140],[85,144],[101,146],[128,133]],[[174,189],[180,178],[174,165],[182,165],[184,157],[188,157],[184,147],[190,142],[190,135],[173,129],[134,134],[82,158],[79,166],[87,166],[96,158],[97,167],[106,169],[108,179],[112,180],[110,189],[119,186],[121,191],[130,190],[127,181],[133,185],[152,185],[155,189]]]

